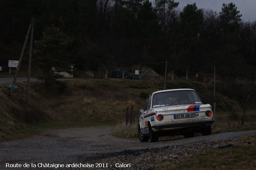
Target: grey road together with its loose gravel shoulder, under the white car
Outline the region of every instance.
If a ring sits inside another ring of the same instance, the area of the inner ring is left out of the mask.
[[[234,143],[235,138],[256,133],[256,131],[228,132],[141,143],[113,137],[112,130],[112,127],[65,128],[46,131],[24,140],[2,142],[0,169],[8,169],[6,163],[22,165],[108,163],[111,169],[116,163],[125,163],[130,164],[129,169],[157,169],[154,162],[165,159],[166,156],[173,158],[175,164],[183,156],[199,153],[202,148]]]

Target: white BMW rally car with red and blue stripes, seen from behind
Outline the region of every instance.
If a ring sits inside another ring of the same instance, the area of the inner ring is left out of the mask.
[[[141,142],[157,142],[159,136],[193,137],[195,132],[210,135],[214,122],[212,106],[203,104],[193,89],[156,91],[148,96],[140,113]]]

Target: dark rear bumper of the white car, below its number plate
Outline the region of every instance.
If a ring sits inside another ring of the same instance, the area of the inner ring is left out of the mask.
[[[155,128],[157,130],[171,129],[171,128],[187,128],[187,127],[195,127],[195,126],[206,126],[206,125],[211,125],[212,123],[214,123],[214,120],[160,124],[160,125],[154,125],[154,126],[152,126],[152,128]]]

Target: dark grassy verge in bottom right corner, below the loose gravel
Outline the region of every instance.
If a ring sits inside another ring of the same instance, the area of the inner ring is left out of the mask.
[[[166,161],[162,167],[168,167]],[[256,135],[245,136],[228,148],[215,148],[185,158],[175,169],[255,169]],[[168,169],[168,168],[166,168]]]

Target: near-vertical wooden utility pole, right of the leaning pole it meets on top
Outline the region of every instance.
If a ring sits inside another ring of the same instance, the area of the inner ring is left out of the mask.
[[[34,34],[34,17],[31,19],[32,28],[30,35],[30,45],[29,45],[29,60],[28,60],[28,84],[27,84],[27,104],[29,103],[29,90],[30,90],[30,71],[31,71],[31,58],[32,58],[32,46],[33,46],[33,34]]]

